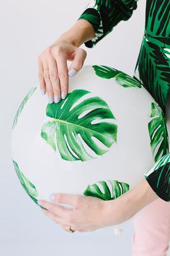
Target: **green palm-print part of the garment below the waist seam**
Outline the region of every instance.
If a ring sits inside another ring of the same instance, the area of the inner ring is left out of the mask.
[[[145,36],[135,68],[138,69],[140,81],[143,82],[164,113],[166,96],[170,87],[170,59],[164,52],[164,48],[166,51],[168,48],[170,50],[170,42],[166,44],[165,40],[166,38]]]

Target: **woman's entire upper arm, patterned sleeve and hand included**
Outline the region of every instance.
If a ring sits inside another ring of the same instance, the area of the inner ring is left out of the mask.
[[[79,20],[38,56],[40,89],[48,93],[48,103],[58,103],[68,94],[68,76],[73,77],[84,64],[82,43],[94,46],[120,20],[128,20],[136,8],[135,0],[93,0]],[[67,61],[72,61],[67,67]]]

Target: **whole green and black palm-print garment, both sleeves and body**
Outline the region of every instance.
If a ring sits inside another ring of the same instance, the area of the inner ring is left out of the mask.
[[[86,41],[94,47],[122,20],[128,20],[138,0],[92,0],[78,20],[87,20],[94,27],[95,37]],[[161,107],[166,120],[166,101],[170,87],[170,1],[146,0],[145,33],[135,67],[138,80]],[[154,127],[153,127],[154,128]],[[167,148],[167,147],[166,147]],[[170,153],[160,152],[156,165],[145,177],[156,194],[170,201]]]

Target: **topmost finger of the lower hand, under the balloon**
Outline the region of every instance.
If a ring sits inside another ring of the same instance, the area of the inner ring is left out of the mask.
[[[71,195],[66,193],[54,193],[50,195],[50,198],[53,202],[60,202],[63,204],[78,206],[84,200],[84,196],[82,195]]]

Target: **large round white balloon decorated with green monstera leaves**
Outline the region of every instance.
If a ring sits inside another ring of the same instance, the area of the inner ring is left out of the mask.
[[[106,66],[84,66],[69,77],[60,103],[48,104],[32,88],[12,128],[14,168],[35,202],[53,192],[112,200],[168,150],[156,101],[140,82]]]

